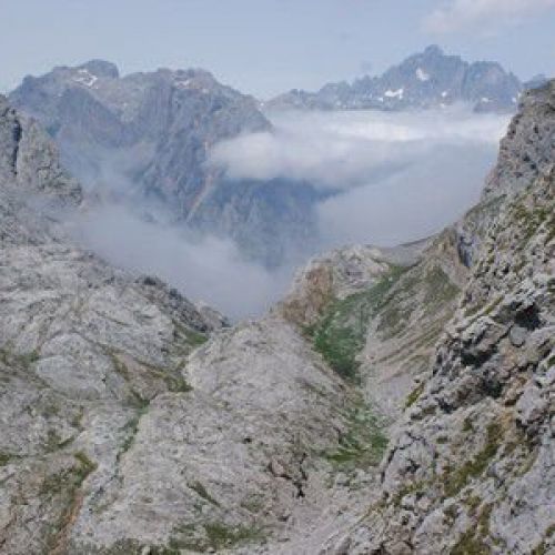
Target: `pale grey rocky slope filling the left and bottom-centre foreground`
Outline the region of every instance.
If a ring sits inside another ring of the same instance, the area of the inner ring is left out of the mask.
[[[4,99],[0,145],[0,553],[252,552],[375,472],[380,423],[291,324],[218,331],[82,252],[79,184]]]

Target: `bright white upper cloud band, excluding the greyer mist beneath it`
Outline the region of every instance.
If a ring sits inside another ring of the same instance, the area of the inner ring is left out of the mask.
[[[289,178],[336,191],[369,184],[450,143],[497,144],[506,118],[442,111],[292,112],[270,114],[275,130],[223,141],[211,163],[230,179]]]

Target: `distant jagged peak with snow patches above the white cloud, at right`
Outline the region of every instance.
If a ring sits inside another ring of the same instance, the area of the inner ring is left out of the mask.
[[[541,84],[538,81],[537,84]],[[513,111],[525,85],[496,62],[468,63],[432,46],[381,77],[329,83],[317,92],[292,90],[266,109],[407,110],[467,102],[477,112]]]

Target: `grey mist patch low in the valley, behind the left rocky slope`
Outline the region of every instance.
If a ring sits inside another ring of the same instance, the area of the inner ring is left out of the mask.
[[[157,275],[193,302],[232,319],[258,315],[280,299],[292,269],[245,261],[230,240],[196,236],[142,219],[125,205],[99,206],[73,222],[79,241],[107,261]]]

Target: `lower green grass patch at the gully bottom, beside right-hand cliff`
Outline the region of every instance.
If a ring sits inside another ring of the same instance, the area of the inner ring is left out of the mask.
[[[342,468],[366,468],[377,464],[387,448],[383,422],[372,410],[360,403],[347,413],[349,431],[340,446],[325,457]]]

